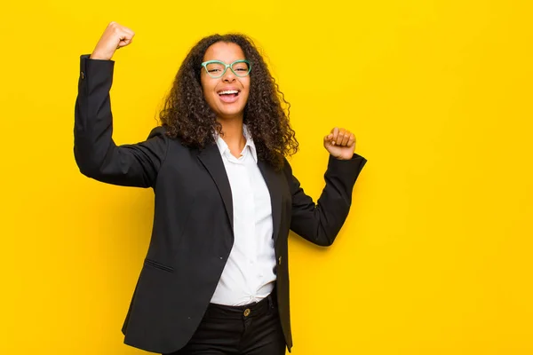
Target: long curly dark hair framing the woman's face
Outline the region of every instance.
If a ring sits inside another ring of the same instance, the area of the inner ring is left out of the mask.
[[[298,140],[289,123],[290,103],[270,75],[253,41],[242,34],[207,36],[189,51],[159,114],[166,134],[179,138],[185,146],[203,149],[214,142],[215,132],[221,132],[222,125],[203,98],[200,81],[203,55],[211,44],[218,42],[239,45],[245,59],[251,62],[250,94],[244,107],[244,123],[251,133],[259,160],[280,170],[284,157],[298,152]]]

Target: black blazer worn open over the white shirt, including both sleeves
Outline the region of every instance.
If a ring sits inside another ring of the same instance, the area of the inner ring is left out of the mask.
[[[157,127],[139,144],[116,146],[109,90],[114,61],[81,58],[74,153],[87,177],[115,185],[152,187],[154,226],[147,257],[123,324],[124,343],[154,352],[178,351],[195,333],[233,246],[233,206],[216,144],[183,146]],[[276,290],[290,351],[289,230],[330,245],[343,225],[366,160],[330,157],[318,204],[304,193],[290,165],[275,171],[258,162],[272,201]]]

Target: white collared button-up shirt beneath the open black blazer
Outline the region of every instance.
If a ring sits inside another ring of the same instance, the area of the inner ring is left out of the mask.
[[[258,167],[253,140],[243,125],[246,145],[240,158],[216,137],[231,186],[235,241],[213,304],[243,305],[259,302],[274,288],[275,253],[272,237],[272,206],[267,184]]]

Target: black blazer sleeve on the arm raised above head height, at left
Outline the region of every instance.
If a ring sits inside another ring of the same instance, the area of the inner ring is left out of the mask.
[[[75,109],[74,156],[87,177],[124,186],[155,185],[168,150],[163,127],[152,130],[146,141],[116,146],[109,90],[113,83],[113,60],[80,59],[80,78]]]

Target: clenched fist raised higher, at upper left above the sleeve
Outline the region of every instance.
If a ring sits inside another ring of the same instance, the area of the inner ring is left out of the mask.
[[[116,22],[109,23],[94,51],[92,51],[91,59],[109,60],[113,58],[115,51],[130,44],[133,36],[135,33],[130,28],[125,28]]]

